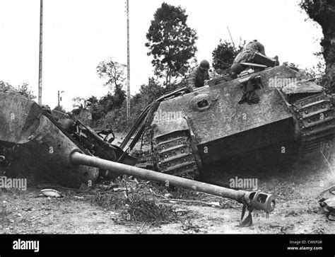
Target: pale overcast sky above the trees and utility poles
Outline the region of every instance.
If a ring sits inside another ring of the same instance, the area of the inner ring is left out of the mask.
[[[322,29],[300,10],[300,0],[165,0],[182,6],[194,28],[196,58],[211,60],[219,40],[257,39],[266,55],[312,67]],[[153,76],[146,33],[162,0],[129,0],[131,95]],[[307,20],[306,20],[307,19]],[[38,92],[40,0],[0,0],[0,81],[28,83]],[[96,67],[112,57],[127,64],[126,0],[44,0],[42,103],[72,110],[76,96],[107,93]],[[126,89],[126,88],[124,88]],[[37,101],[37,99],[36,99]]]

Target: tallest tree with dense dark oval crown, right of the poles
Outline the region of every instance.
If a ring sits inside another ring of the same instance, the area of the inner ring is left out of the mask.
[[[189,28],[186,21],[185,9],[163,3],[155,11],[146,34],[155,76],[165,77],[166,84],[187,73],[189,59],[196,53],[196,30]]]

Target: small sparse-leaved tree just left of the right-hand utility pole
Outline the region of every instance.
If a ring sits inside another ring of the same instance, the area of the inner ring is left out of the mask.
[[[119,108],[124,99],[126,99],[126,93],[122,90],[124,86],[124,69],[126,65],[114,62],[112,58],[100,62],[97,67],[97,73],[100,79],[107,79],[104,86],[108,86],[110,91],[114,91],[113,95],[113,106]]]

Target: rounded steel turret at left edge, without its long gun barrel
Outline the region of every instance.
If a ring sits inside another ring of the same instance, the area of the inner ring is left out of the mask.
[[[78,188],[93,185],[96,168],[73,166],[69,154],[84,152],[37,103],[11,93],[0,92],[0,155],[8,176],[30,176]]]

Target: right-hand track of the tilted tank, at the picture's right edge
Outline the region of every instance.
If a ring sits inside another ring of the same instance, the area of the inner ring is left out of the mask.
[[[322,92],[293,103],[301,132],[300,161],[315,158],[335,137],[334,106]]]

